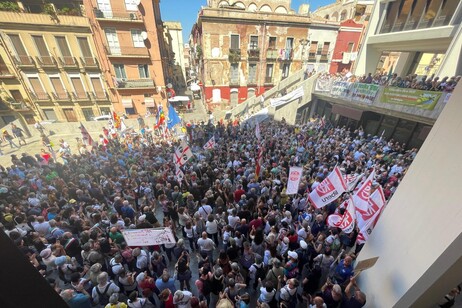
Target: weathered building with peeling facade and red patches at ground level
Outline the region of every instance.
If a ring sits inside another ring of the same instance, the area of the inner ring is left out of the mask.
[[[199,12],[191,65],[209,107],[236,106],[304,69],[311,31],[324,35],[318,40],[316,68],[328,69],[338,23],[314,21],[309,12],[297,14],[290,0],[257,3],[211,0]]]

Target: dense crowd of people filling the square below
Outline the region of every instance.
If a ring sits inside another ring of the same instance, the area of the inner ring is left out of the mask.
[[[236,121],[191,127],[181,180],[173,137],[103,133],[80,154],[12,155],[0,170],[1,228],[70,307],[363,307],[358,230],[326,223],[348,197],[316,209],[308,193],[338,165],[375,170],[388,199],[417,150],[319,122],[262,123],[260,139]],[[304,167],[295,195],[290,166]],[[121,233],[153,227],[176,243],[129,247]]]

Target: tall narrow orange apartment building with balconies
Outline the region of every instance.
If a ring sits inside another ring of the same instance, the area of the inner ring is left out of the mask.
[[[168,54],[159,0],[83,0],[114,110],[135,116],[166,104]]]

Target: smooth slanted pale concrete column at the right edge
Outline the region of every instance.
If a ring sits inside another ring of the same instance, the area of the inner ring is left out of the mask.
[[[462,278],[462,85],[438,117],[358,260],[368,307],[435,307]]]

